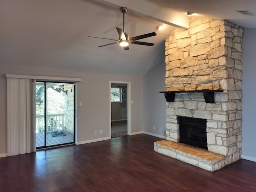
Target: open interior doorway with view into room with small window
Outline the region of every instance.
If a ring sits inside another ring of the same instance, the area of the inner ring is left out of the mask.
[[[110,82],[110,138],[130,135],[129,98],[129,82]]]

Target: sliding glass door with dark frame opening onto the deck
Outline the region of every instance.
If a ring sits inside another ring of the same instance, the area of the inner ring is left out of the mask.
[[[36,148],[74,143],[75,84],[36,82]]]

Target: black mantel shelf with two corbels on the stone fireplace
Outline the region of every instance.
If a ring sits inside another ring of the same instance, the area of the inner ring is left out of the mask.
[[[164,93],[164,97],[167,102],[174,102],[175,93],[204,93],[204,100],[206,103],[214,103],[214,93],[215,92],[223,92],[223,90],[194,90],[194,91],[161,91],[160,93]]]

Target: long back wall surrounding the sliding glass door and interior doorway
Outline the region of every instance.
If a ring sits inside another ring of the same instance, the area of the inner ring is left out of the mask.
[[[77,84],[77,141],[107,138],[110,133],[110,81],[131,82],[131,132],[142,131],[142,77],[0,65],[0,156],[7,152],[7,104],[5,74],[81,77]],[[102,134],[94,135],[102,130]]]

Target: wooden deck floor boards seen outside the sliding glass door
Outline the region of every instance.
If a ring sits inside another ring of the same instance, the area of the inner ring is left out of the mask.
[[[65,136],[52,137],[51,133],[46,133],[46,146],[59,145],[74,142],[74,134],[65,130]],[[36,134],[36,147],[44,146],[44,133]]]

